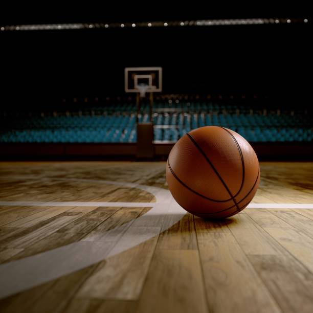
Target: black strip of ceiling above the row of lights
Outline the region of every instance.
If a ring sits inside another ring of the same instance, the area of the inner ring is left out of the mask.
[[[51,2],[41,4],[16,4],[2,6],[0,10],[1,25],[46,24],[46,23],[96,23],[96,22],[127,22],[148,20],[192,20],[192,19],[227,19],[227,18],[306,18],[308,8],[300,5],[254,6],[247,10],[247,5],[220,5],[218,8],[206,2],[202,6],[195,4],[169,6],[161,2],[130,2],[93,6],[90,3],[56,5]]]

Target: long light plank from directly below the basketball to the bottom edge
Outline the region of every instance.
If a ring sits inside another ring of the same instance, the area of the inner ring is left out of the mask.
[[[202,231],[197,238],[209,311],[280,312],[232,234]]]

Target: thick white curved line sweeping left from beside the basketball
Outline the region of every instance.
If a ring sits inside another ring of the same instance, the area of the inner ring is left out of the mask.
[[[51,177],[59,180],[59,178]],[[66,180],[66,178],[64,178]],[[161,231],[174,225],[186,211],[172,198],[168,190],[134,183],[122,183],[96,180],[92,181],[130,188],[139,188],[155,196],[156,202],[144,215],[116,229],[105,233],[104,238],[74,242],[62,247],[42,252],[20,260],[0,264],[0,298],[6,298],[18,292],[42,283],[68,275],[90,266],[105,258],[135,247]],[[46,203],[47,204],[47,203]],[[110,203],[110,206],[113,203]],[[131,203],[129,203],[130,205]],[[168,216],[170,215],[170,216]],[[117,237],[118,241],[113,241]]]

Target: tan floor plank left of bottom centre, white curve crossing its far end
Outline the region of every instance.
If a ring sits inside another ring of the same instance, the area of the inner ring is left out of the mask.
[[[146,278],[159,231],[160,228],[130,227],[121,238],[119,249],[127,246],[134,236],[143,237],[143,243],[100,263],[93,275],[83,284],[77,297],[136,300]],[[155,237],[145,241],[144,237],[149,238],[150,232],[153,232]]]

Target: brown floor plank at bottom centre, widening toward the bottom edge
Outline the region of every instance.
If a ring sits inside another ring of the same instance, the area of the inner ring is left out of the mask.
[[[207,312],[198,252],[157,250],[136,312]]]

